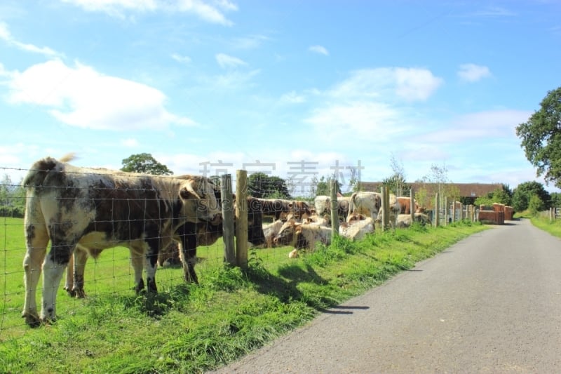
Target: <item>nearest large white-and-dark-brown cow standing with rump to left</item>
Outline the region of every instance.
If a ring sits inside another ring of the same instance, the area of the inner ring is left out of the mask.
[[[95,257],[104,248],[128,247],[133,262],[137,262],[135,269],[144,258],[147,289],[156,293],[160,248],[168,246],[186,223],[218,225],[222,220],[216,186],[203,176],[173,178],[79,168],[67,163],[70,160],[72,156],[36,161],[22,181],[27,194],[22,317],[29,326],[55,320],[57,289],[75,248]],[[36,288],[41,270],[43,292],[38,314]],[[135,290],[142,289],[140,272],[135,274]]]

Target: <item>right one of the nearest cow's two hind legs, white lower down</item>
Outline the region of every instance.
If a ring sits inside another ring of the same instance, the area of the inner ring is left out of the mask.
[[[50,251],[43,261],[43,300],[40,314],[42,321],[56,319],[58,286],[76,246],[75,241],[68,243],[56,238],[52,240]]]

